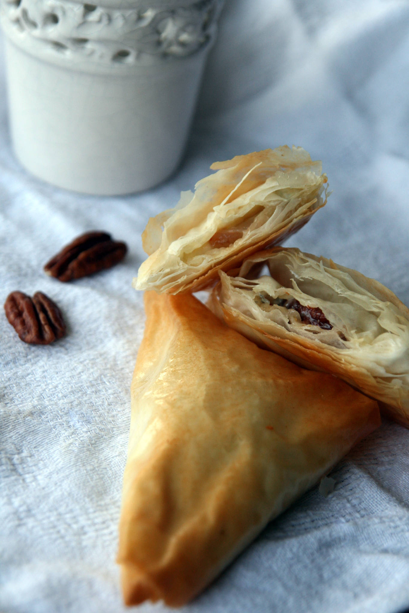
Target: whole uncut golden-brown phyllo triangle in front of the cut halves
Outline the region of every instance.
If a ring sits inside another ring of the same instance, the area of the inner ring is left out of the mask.
[[[191,295],[145,294],[118,563],[179,606],[379,423],[340,379],[258,348]]]

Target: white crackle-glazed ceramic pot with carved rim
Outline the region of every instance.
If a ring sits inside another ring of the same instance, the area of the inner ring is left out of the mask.
[[[222,0],[1,0],[21,164],[89,194],[150,188],[178,165]]]

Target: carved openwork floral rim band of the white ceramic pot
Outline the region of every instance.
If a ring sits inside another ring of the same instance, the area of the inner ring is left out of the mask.
[[[32,55],[104,70],[193,55],[213,38],[222,0],[2,0],[7,36]]]

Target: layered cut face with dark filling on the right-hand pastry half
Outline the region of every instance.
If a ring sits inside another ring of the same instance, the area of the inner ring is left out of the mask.
[[[394,376],[402,373],[408,320],[375,281],[365,281],[359,273],[331,260],[280,248],[249,257],[235,274],[234,270],[231,276],[220,272],[215,297],[220,300],[221,314],[240,319],[239,331],[247,327],[295,343],[298,335],[345,350],[348,356],[353,353],[359,364],[376,354],[376,376],[389,372],[390,366],[387,371],[384,365],[391,359]]]

